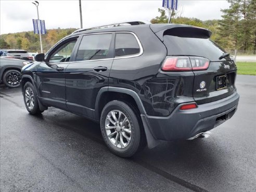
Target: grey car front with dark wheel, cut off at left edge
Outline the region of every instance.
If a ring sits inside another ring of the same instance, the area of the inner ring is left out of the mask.
[[[0,57],[0,83],[14,88],[20,85],[20,71],[28,61]]]

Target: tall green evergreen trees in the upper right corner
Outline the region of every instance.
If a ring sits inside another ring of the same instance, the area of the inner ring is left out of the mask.
[[[253,33],[255,26],[256,0],[228,0],[231,5],[222,9],[220,20],[220,42],[233,49],[249,50],[255,41]]]

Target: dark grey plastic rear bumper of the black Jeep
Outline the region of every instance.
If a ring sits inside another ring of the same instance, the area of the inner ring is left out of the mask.
[[[198,105],[196,109],[180,110],[177,106],[168,117],[142,115],[142,119],[157,140],[188,139],[230,119],[238,101],[239,95],[234,93],[224,99]]]

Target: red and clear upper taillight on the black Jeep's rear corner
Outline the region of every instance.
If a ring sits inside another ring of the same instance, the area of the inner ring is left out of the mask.
[[[209,67],[210,60],[203,57],[167,57],[162,65],[163,71],[199,71]]]

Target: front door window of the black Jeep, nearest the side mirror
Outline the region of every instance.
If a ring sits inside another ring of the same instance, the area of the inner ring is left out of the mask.
[[[51,56],[49,62],[68,62],[76,40],[61,45]]]

